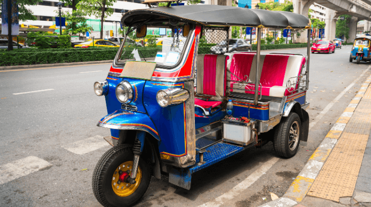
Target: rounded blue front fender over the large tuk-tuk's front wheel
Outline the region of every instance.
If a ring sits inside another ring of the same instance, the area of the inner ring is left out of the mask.
[[[96,125],[112,129],[142,130],[160,141],[155,125],[148,115],[143,113],[117,110],[103,117]]]

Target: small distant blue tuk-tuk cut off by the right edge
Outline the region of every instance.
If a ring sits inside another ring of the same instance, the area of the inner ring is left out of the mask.
[[[357,60],[357,64],[359,64],[361,60],[365,62],[371,61],[370,41],[370,36],[363,36],[354,39],[352,51],[350,52],[349,62]]]

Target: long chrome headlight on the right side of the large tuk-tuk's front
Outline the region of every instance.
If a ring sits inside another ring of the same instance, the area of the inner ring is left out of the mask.
[[[156,94],[158,105],[167,107],[185,102],[189,98],[189,91],[184,88],[166,88]]]

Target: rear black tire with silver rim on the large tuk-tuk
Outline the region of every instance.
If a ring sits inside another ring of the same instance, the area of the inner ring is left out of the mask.
[[[282,117],[273,138],[273,147],[279,156],[291,158],[296,154],[300,144],[300,130],[299,115],[290,113],[287,117]]]

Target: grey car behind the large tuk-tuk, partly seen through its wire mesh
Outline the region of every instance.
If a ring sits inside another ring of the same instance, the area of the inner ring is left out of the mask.
[[[230,39],[228,45],[228,52],[250,52],[252,50],[251,44],[243,39]],[[227,42],[221,41],[210,48],[213,54],[224,54],[227,52]]]

